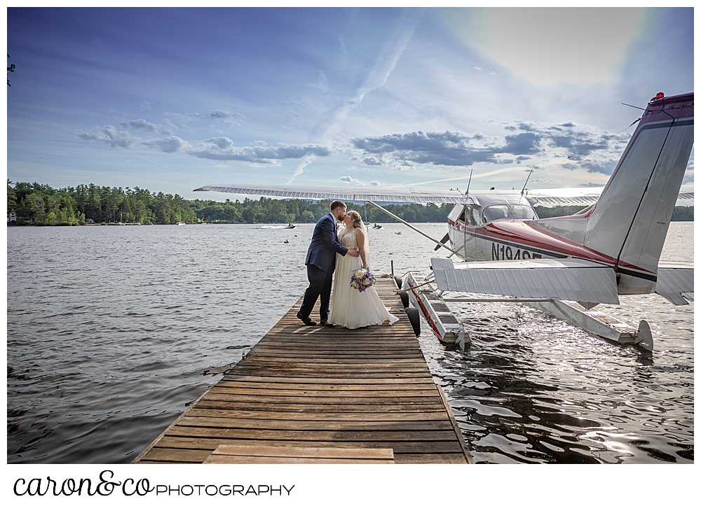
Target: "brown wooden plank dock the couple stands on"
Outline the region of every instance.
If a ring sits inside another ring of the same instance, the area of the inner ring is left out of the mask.
[[[300,298],[134,463],[210,463],[242,453],[247,460],[229,462],[299,462],[324,449],[348,458],[376,449],[385,452],[380,460],[393,455],[394,463],[472,463],[393,279],[377,279],[375,288],[400,321],[307,327],[295,316]],[[311,316],[318,319],[318,307]],[[236,447],[246,452],[231,451]],[[250,457],[251,447],[257,456]],[[271,449],[297,460],[270,460]]]

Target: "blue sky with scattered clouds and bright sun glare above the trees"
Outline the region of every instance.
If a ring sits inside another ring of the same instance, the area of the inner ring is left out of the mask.
[[[603,185],[621,102],[693,91],[692,8],[7,12],[7,177],[56,188]]]

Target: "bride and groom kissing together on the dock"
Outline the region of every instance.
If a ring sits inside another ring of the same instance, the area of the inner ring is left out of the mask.
[[[346,225],[336,232],[336,222]],[[351,286],[351,277],[358,269],[368,268],[369,241],[367,228],[357,211],[346,213],[346,204],[340,200],[331,203],[331,212],[314,227],[305,264],[309,288],[304,292],[297,318],[304,325],[316,325],[309,318],[316,300],[321,295],[320,324],[325,327],[341,325],[360,328],[368,325],[390,325],[399,318],[390,314],[382,304],[373,286],[362,292]],[[329,314],[331,286],[336,272],[334,297]]]

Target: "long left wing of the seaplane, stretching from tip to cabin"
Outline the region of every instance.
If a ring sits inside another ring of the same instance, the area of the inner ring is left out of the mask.
[[[288,199],[329,199],[395,202],[397,204],[472,204],[459,190],[414,190],[411,188],[319,188],[316,186],[206,185],[194,192],[226,192]]]

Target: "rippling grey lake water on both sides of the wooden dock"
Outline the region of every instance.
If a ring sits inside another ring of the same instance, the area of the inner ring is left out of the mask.
[[[299,299],[312,230],[8,228],[8,463],[132,461]],[[403,225],[369,234],[376,272],[437,255]],[[693,223],[672,223],[662,259],[693,260]],[[605,307],[645,318],[652,353],[519,304],[451,306],[472,346],[423,321],[419,342],[476,462],[693,463],[693,303]]]

